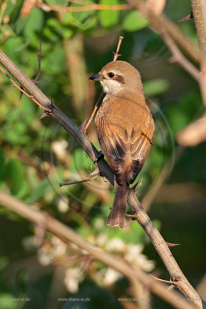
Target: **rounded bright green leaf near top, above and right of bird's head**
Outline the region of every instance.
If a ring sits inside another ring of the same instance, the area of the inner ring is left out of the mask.
[[[149,20],[139,11],[129,12],[122,24],[122,28],[126,31],[137,31],[148,26]]]

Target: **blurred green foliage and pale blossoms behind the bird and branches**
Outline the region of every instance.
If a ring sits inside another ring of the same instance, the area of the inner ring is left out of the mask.
[[[71,1],[69,6],[89,2]],[[68,5],[64,0],[45,3]],[[121,0],[98,3],[126,4]],[[204,111],[198,83],[168,61],[170,51],[148,27],[148,20],[142,15],[137,18],[139,12],[62,13],[36,6],[25,13],[22,0],[0,0],[0,5],[1,49],[35,78],[41,37],[42,75],[37,86],[77,125],[90,117],[102,91],[88,77],[113,60],[119,35],[124,36],[118,60],[140,71],[155,121],[153,148],[138,176],[143,182],[137,193],[163,238],[181,244],[171,252],[192,286],[206,297],[206,143],[183,148],[176,142],[176,133]],[[190,0],[168,0],[164,13],[177,23],[190,11]],[[193,19],[177,24],[198,46]],[[134,267],[170,280],[137,222],[123,231],[106,226],[114,196],[106,179],[59,187],[59,182],[85,179],[95,165],[53,119],[37,121],[43,111],[25,95],[19,101],[19,95],[0,74],[0,189],[44,210]],[[87,135],[99,149],[94,120]],[[0,309],[170,308],[149,292],[149,302],[118,302],[118,297],[131,297],[131,282],[48,232],[43,243],[36,242],[34,226],[4,207],[0,229],[0,298],[31,298],[30,302],[2,301]],[[137,295],[141,297],[141,287]],[[61,297],[91,300],[58,301]]]

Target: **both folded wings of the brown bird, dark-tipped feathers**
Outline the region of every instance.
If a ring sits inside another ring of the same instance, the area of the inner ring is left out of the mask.
[[[148,120],[145,122],[145,129],[141,129],[138,123],[144,120],[139,119],[129,134],[125,128],[129,127],[129,124],[124,123],[124,127],[119,123],[116,125],[108,121],[108,117],[106,121],[101,107],[95,118],[99,143],[119,184],[124,184],[125,181],[128,184],[134,182],[152,148],[154,123],[149,108],[147,109],[149,113],[146,117]],[[126,158],[131,159],[131,168],[125,175],[123,161]]]

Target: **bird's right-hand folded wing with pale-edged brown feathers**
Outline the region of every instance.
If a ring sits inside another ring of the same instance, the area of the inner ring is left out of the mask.
[[[149,112],[149,122],[145,129],[132,129],[129,147],[129,157],[132,159],[132,166],[127,177],[127,183],[132,184],[141,171],[145,161],[152,149],[154,136],[154,121]]]

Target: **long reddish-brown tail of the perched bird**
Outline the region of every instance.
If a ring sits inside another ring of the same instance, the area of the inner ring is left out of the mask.
[[[107,225],[110,225],[111,227],[119,225],[120,229],[124,228],[128,192],[128,184],[125,183],[119,185],[115,181],[115,196],[109,217],[106,222]]]

